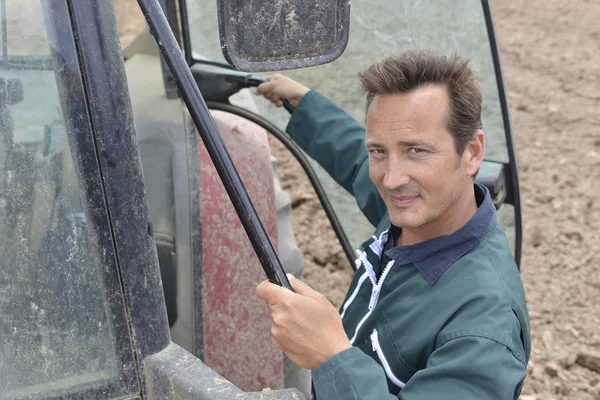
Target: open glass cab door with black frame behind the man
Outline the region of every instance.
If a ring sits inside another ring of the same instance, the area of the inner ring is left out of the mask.
[[[190,62],[198,55],[224,61],[219,47],[216,5],[209,0],[185,0],[191,47]],[[506,93],[496,37],[487,0],[398,0],[391,5],[379,0],[352,3],[348,47],[336,61],[285,74],[317,89],[358,121],[364,122],[365,98],[357,72],[390,54],[429,49],[442,55],[471,59],[471,67],[481,78],[483,92],[483,130],[486,134],[485,161],[477,180],[492,193],[498,218],[509,238],[517,264],[521,258],[521,207],[519,179]],[[235,101],[235,100],[234,100]],[[284,129],[289,115],[255,99],[258,112]],[[368,238],[374,227],[362,215],[354,198],[335,183],[316,162],[312,168],[327,192],[342,226],[339,239],[346,254]],[[353,263],[352,263],[353,265]]]

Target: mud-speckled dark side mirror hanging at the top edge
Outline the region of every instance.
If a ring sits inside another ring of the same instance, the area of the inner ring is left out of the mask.
[[[242,71],[281,71],[337,59],[348,44],[350,1],[217,0],[221,48]]]

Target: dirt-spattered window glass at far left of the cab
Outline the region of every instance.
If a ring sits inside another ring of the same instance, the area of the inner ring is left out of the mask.
[[[66,4],[0,1],[8,49],[0,62],[0,399],[122,396],[130,388],[115,300],[123,305],[108,289],[98,210],[90,210],[65,106],[81,87],[61,85],[64,59],[75,59],[69,21],[58,21]],[[51,55],[52,27],[71,54]],[[87,115],[77,115],[77,129],[91,135]]]

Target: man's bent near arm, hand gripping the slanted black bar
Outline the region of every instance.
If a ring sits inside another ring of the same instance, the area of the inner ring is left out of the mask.
[[[297,365],[313,371],[320,400],[516,399],[526,367],[492,334],[449,332],[424,369],[398,396],[390,393],[385,370],[352,347],[335,308],[323,295],[289,275],[296,293],[268,281],[257,294],[269,306],[274,343]],[[514,316],[513,324],[518,324]]]

